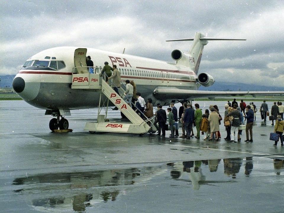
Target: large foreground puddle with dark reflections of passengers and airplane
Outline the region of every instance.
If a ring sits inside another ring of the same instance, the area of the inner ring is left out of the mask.
[[[119,196],[128,194],[135,196],[137,193],[143,193],[143,187],[147,185],[164,187],[167,191],[172,191],[173,188],[179,189],[183,185],[188,190],[205,192],[206,187],[222,188],[225,185],[228,187],[227,184],[245,183],[249,180],[247,177],[257,176],[262,172],[259,166],[256,169],[253,166],[254,161],[259,165],[260,160],[265,161],[266,164],[267,161],[270,162],[270,168],[266,165],[266,170],[273,171],[269,172],[270,175],[283,174],[283,160],[246,157],[24,176],[15,178],[12,185],[13,193],[29,197],[28,205],[33,206],[35,210],[88,212],[88,209],[96,205],[122,199],[118,199]],[[157,196],[159,194],[158,191],[153,193],[157,193]],[[180,193],[179,196],[185,196],[182,190]]]

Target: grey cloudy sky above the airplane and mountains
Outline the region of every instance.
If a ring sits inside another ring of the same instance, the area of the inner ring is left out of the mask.
[[[86,46],[171,61],[196,31],[209,41],[199,72],[217,81],[283,86],[284,1],[0,1],[0,75],[39,51]]]

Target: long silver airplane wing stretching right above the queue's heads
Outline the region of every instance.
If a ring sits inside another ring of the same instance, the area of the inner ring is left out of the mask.
[[[214,98],[217,96],[245,96],[245,95],[284,95],[284,91],[202,91],[186,90],[175,87],[157,87],[153,95],[156,99],[194,99],[194,98]]]

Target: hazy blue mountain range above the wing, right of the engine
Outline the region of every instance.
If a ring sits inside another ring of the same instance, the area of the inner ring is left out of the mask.
[[[198,90],[208,91],[284,91],[284,87],[262,86],[258,84],[215,82],[212,86],[199,87]]]

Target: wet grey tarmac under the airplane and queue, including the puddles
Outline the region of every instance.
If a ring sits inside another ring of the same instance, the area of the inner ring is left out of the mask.
[[[284,212],[284,147],[259,113],[254,142],[229,143],[83,131],[96,111],[52,133],[44,110],[0,101],[0,212]]]

